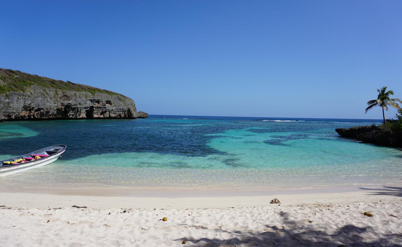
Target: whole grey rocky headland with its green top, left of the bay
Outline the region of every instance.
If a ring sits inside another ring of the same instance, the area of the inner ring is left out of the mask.
[[[0,120],[136,117],[134,101],[121,94],[0,69]]]

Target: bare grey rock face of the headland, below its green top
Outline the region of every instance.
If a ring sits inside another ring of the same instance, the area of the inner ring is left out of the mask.
[[[35,96],[37,95],[37,96]],[[133,100],[108,94],[46,90],[32,86],[29,92],[0,95],[0,114],[4,120],[135,118]]]

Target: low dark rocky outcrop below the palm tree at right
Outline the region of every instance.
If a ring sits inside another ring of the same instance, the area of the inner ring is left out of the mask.
[[[378,145],[387,145],[393,147],[402,146],[402,136],[396,131],[383,126],[360,126],[347,129],[335,129],[335,131],[348,138],[365,143],[374,143]]]

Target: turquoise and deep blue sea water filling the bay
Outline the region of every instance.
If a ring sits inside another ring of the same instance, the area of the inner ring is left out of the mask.
[[[55,144],[63,159],[0,178],[26,188],[279,190],[401,184],[402,151],[338,136],[380,120],[150,115],[0,122],[0,160]]]

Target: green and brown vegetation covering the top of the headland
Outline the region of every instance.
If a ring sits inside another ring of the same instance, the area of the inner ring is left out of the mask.
[[[64,82],[61,80],[54,80],[38,75],[31,75],[19,70],[0,68],[0,94],[5,94],[6,92],[27,92],[28,89],[34,85],[40,86],[42,88],[54,88],[56,90],[62,91],[70,90],[75,92],[90,92],[91,94],[104,93],[127,98],[122,94],[118,94],[109,90],[76,84],[69,81]]]

